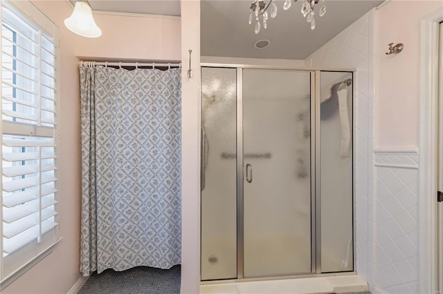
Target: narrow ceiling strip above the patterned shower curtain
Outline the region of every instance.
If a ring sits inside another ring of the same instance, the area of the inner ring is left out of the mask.
[[[93,11],[180,15],[179,0],[89,0],[89,4]]]

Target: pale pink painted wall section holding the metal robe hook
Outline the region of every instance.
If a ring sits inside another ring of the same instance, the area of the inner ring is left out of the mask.
[[[374,146],[418,146],[419,21],[442,1],[390,1],[377,10],[377,126]],[[392,17],[399,15],[392,21]],[[386,55],[388,43],[404,43]]]

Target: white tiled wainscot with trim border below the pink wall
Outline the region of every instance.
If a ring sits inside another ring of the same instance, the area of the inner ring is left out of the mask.
[[[374,293],[418,293],[418,153],[377,151]]]

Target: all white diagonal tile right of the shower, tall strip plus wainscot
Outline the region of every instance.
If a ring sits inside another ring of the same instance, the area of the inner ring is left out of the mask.
[[[418,293],[417,150],[374,150],[374,14],[306,59],[356,68],[356,270],[373,293]]]

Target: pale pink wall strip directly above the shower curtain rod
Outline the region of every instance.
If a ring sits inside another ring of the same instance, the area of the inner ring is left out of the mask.
[[[77,57],[93,60],[181,60],[179,17],[147,17],[143,14],[136,17],[100,13],[95,14],[94,18],[102,29],[102,36],[97,39],[75,37],[72,46]]]

